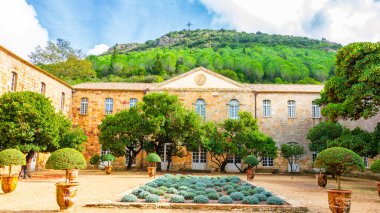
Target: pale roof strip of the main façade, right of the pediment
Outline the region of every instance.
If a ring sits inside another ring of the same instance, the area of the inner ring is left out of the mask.
[[[320,93],[324,85],[319,84],[246,84],[255,92]]]

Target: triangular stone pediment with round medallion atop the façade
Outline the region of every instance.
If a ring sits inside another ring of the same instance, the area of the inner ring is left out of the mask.
[[[170,89],[227,89],[227,90],[247,90],[249,89],[230,78],[203,67],[195,68],[182,75],[164,81],[151,90]]]

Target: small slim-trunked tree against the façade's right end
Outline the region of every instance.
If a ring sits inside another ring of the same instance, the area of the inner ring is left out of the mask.
[[[288,142],[281,145],[281,156],[285,158],[290,165],[290,173],[294,173],[298,169],[298,162],[305,154],[305,149],[297,142]]]

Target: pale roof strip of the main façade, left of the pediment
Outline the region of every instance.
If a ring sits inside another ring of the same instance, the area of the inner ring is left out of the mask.
[[[94,82],[74,85],[75,90],[144,91],[156,83]]]

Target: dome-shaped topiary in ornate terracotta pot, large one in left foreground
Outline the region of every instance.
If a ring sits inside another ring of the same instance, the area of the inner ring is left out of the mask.
[[[70,182],[69,171],[86,168],[86,160],[82,153],[71,148],[57,150],[46,161],[46,168],[66,170],[66,181],[56,183],[56,198],[61,210],[72,207],[76,201],[79,183]]]

